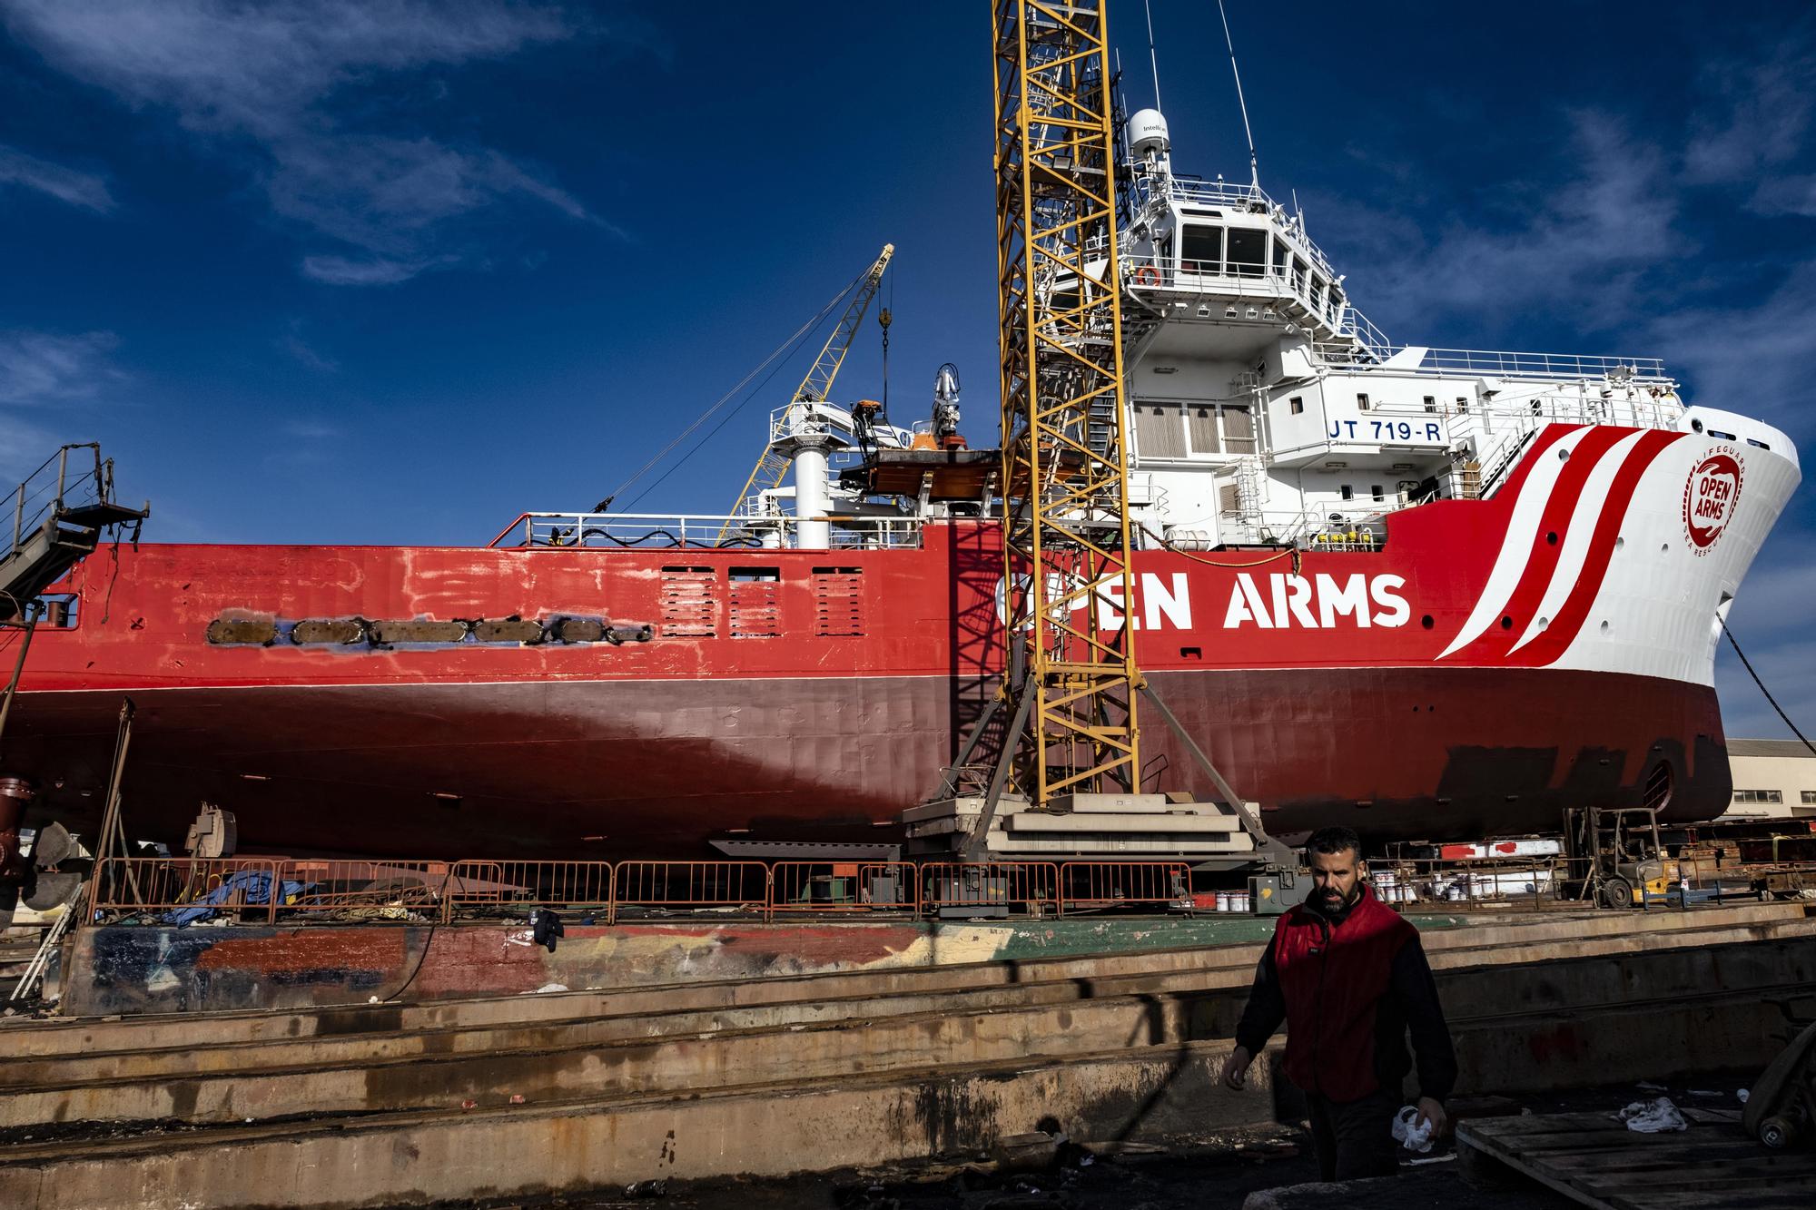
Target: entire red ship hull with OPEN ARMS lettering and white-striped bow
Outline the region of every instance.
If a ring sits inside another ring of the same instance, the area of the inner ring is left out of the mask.
[[[1745,494],[1693,550],[1707,445],[1553,425],[1495,498],[1395,512],[1382,549],[1140,552],[1139,660],[1282,836],[1518,834],[1585,803],[1711,818],[1711,627],[1798,474],[1740,451]],[[1585,489],[1598,458],[1618,474]],[[38,785],[40,818],[91,821],[133,696],[125,818],[163,839],[202,801],[289,850],[893,839],[1001,674],[995,538],[104,550],[67,585],[74,625],[35,641],[0,774]],[[1093,609],[1113,625],[1122,601]],[[1153,714],[1142,778],[1211,790]]]

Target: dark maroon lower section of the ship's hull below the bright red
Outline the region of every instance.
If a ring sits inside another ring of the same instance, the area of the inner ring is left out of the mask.
[[[1731,794],[1705,687],[1484,669],[1153,681],[1219,769],[1264,805],[1269,830],[1288,838],[1331,821],[1380,838],[1553,830],[1565,805],[1640,805],[1660,765],[1671,769],[1667,819],[1711,818]],[[933,790],[955,725],[975,716],[950,681],[883,676],[134,698],[125,794],[134,832],[180,838],[196,805],[214,801],[262,847],[456,858],[696,858],[706,836],[893,841],[897,814]],[[33,707],[7,745],[9,767],[104,783],[118,694]],[[1150,723],[1144,739],[1151,785],[1213,798],[1164,729]]]

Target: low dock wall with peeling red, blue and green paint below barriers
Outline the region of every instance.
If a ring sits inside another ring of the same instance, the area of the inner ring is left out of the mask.
[[[1456,917],[1429,917],[1444,928]],[[1180,947],[1257,945],[1260,917],[972,923],[568,923],[554,952],[523,925],[133,925],[84,928],[64,1012],[234,1012],[913,970]]]

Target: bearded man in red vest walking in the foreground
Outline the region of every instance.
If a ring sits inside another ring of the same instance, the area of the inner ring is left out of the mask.
[[[1418,1121],[1433,1137],[1449,1119],[1456,1052],[1418,930],[1364,881],[1362,841],[1322,828],[1306,843],[1311,894],[1284,916],[1255,970],[1224,1083],[1248,1066],[1286,1021],[1286,1076],[1306,1094],[1311,1143],[1326,1181],[1391,1175],[1393,1117],[1418,1056]]]

